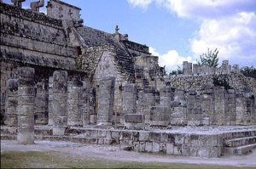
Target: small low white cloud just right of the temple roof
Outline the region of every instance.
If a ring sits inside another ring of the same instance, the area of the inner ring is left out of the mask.
[[[149,47],[149,53],[159,56],[159,65],[166,66],[166,71],[177,69],[177,65],[183,65],[183,61],[192,61],[191,57],[180,56],[176,50],[170,50],[166,54],[159,54],[155,48]]]

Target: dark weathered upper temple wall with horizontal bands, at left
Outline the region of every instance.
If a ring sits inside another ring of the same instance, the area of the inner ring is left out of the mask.
[[[68,45],[61,20],[0,3],[1,58],[75,69],[77,49]]]

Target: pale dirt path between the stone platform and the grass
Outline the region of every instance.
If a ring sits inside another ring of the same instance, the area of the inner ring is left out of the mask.
[[[10,151],[49,152],[59,155],[71,155],[73,159],[101,159],[106,161],[142,162],[142,163],[182,163],[211,166],[251,166],[256,168],[256,150],[250,155],[224,156],[221,158],[184,157],[174,155],[156,155],[125,151],[118,146],[85,145],[70,142],[36,141],[35,144],[21,145],[15,140],[1,140],[1,156]]]

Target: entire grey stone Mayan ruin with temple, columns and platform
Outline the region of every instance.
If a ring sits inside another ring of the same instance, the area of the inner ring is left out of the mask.
[[[84,25],[81,8],[59,0],[23,2],[0,3],[1,139],[202,157],[256,148],[256,81],[239,65],[183,62],[183,74],[169,76],[118,26]]]

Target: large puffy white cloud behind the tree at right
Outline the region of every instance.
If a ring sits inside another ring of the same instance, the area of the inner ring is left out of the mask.
[[[191,50],[199,55],[207,48],[218,48],[220,59],[230,59],[232,63],[256,64],[256,15],[243,12],[204,20],[198,37],[191,40]]]

